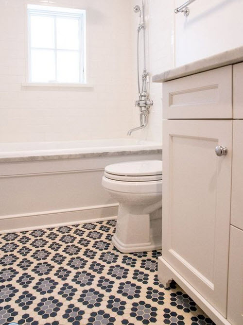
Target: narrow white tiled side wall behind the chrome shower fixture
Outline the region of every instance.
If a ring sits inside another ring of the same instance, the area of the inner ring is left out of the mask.
[[[133,0],[133,5],[141,4]],[[162,85],[152,83],[152,76],[164,70],[174,68],[174,0],[144,0],[146,22],[146,64],[150,73],[150,97],[154,105],[150,109],[148,127],[134,133],[134,137],[162,141]],[[137,66],[136,66],[136,28],[139,17],[133,19],[133,91],[137,99]],[[142,44],[141,44],[142,46]],[[141,51],[142,53],[142,51]],[[142,68],[142,54],[140,60]],[[139,110],[134,109],[134,126],[139,124]],[[136,125],[135,125],[136,124]]]

